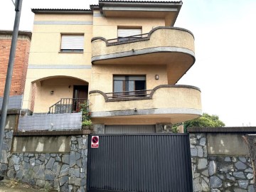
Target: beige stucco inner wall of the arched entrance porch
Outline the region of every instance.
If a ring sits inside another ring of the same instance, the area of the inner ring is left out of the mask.
[[[50,78],[36,82],[35,107],[33,112],[48,112],[49,107],[61,98],[73,98],[73,85],[87,85],[87,82],[73,78]],[[53,91],[53,95],[50,94]]]

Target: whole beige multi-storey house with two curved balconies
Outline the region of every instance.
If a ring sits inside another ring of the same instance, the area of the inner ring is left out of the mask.
[[[201,91],[176,85],[196,60],[193,33],[174,27],[181,5],[32,9],[23,109],[72,113],[89,99],[98,133],[169,132],[171,124],[200,117]]]

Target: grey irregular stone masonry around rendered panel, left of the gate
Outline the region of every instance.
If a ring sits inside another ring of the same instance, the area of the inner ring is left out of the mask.
[[[87,135],[70,139],[68,153],[10,153],[13,131],[5,132],[1,175],[59,191],[86,191]]]

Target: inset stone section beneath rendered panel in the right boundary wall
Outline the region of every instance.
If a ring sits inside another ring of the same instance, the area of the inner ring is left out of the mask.
[[[245,156],[208,156],[210,188],[254,192],[252,162]]]

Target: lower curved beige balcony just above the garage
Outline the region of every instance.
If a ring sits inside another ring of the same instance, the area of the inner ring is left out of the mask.
[[[190,85],[159,85],[123,94],[90,91],[94,123],[184,122],[201,116],[201,91]],[[139,120],[140,119],[140,120]]]

